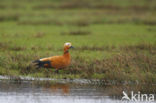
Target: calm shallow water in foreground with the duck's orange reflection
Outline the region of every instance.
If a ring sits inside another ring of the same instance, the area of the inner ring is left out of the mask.
[[[121,103],[110,96],[111,90],[71,82],[0,80],[0,103]]]

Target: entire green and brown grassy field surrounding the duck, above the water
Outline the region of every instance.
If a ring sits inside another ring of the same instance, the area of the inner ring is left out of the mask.
[[[1,75],[156,83],[154,0],[0,2]],[[59,74],[30,66],[67,41],[72,63]]]

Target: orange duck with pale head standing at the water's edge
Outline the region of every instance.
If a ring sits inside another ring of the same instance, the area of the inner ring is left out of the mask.
[[[55,68],[57,70],[70,65],[71,56],[69,49],[74,48],[70,42],[64,43],[63,55],[41,58],[33,61],[37,68]]]

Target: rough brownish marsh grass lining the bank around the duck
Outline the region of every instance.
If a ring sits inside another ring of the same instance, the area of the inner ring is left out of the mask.
[[[82,47],[81,50],[83,50]],[[111,48],[111,47],[110,47]],[[68,68],[60,70],[59,73],[55,72],[52,68],[36,69],[31,64],[33,58],[38,58],[33,54],[16,54],[8,55],[8,57],[0,58],[2,68],[13,70],[11,75],[33,75],[37,77],[53,77],[53,78],[86,78],[86,79],[100,79],[100,83],[155,83],[156,73],[156,47],[150,44],[140,44],[134,46],[120,47],[120,53],[110,58],[102,60],[93,60],[92,62],[85,61],[81,57],[72,59],[72,63]],[[107,50],[106,48],[87,48],[89,50]],[[109,50],[117,48],[111,48]],[[144,54],[144,52],[148,52]],[[9,64],[9,65],[8,65]],[[4,70],[4,69],[3,69]],[[15,72],[17,71],[17,72]],[[11,71],[10,71],[11,72]],[[1,74],[5,75],[4,71]],[[6,74],[7,75],[7,74]],[[99,83],[99,84],[100,84]]]

